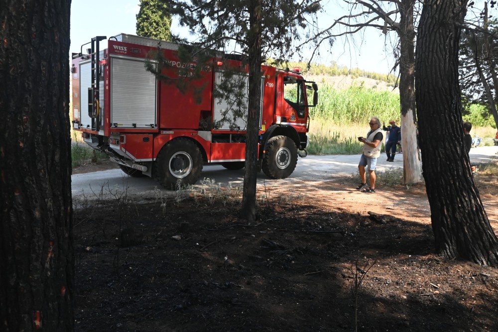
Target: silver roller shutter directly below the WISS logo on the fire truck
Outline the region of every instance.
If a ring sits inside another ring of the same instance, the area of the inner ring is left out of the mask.
[[[145,69],[143,59],[111,61],[111,127],[157,128],[155,76]]]

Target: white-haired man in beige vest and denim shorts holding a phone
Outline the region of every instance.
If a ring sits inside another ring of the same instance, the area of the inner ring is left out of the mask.
[[[358,137],[358,140],[364,143],[364,145],[362,147],[360,163],[358,164],[361,183],[358,187],[356,187],[356,189],[363,189],[364,193],[375,192],[375,165],[377,164],[377,158],[380,157],[380,142],[382,142],[383,139],[382,127],[380,126],[380,120],[378,117],[373,116],[370,118],[369,125],[370,130],[367,133],[367,138]],[[370,188],[367,188],[367,174],[365,166],[368,167],[369,171]]]

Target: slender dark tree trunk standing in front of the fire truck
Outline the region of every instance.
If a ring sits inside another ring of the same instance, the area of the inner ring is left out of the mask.
[[[256,220],[257,141],[261,109],[261,3],[262,0],[251,0],[249,4],[249,112],[241,210],[242,218],[247,221]]]

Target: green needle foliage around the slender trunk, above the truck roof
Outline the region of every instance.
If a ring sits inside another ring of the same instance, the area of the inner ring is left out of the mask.
[[[159,0],[188,27],[194,42],[176,36],[176,40],[204,49],[232,50],[249,55],[251,24],[249,8],[257,5],[246,0]],[[261,1],[261,59],[273,56],[285,61],[295,53],[295,45],[316,29],[316,13],[322,10],[317,0]],[[315,23],[315,24],[314,24]],[[299,53],[300,50],[297,50]],[[262,61],[260,61],[261,63]]]

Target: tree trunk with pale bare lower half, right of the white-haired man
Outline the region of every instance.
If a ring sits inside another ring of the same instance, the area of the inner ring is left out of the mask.
[[[420,182],[420,160],[415,125],[415,0],[402,0],[398,35],[400,40],[399,102],[401,106],[401,146],[403,147],[403,184]]]

